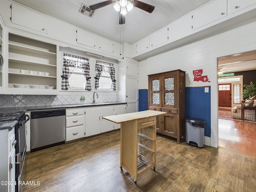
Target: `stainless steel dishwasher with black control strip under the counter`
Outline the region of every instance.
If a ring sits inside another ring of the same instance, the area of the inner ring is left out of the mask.
[[[31,152],[65,142],[66,110],[31,112]]]

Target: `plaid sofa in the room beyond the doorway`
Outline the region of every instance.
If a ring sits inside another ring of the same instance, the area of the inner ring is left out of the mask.
[[[242,105],[248,104],[249,102],[252,103],[252,105],[250,106],[256,106],[256,100],[246,100],[245,103],[242,103],[241,105],[237,105],[232,108],[232,118],[242,119]],[[244,120],[256,121],[255,110],[244,110]]]

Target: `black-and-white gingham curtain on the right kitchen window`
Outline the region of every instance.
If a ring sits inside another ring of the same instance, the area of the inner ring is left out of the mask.
[[[114,64],[96,60],[95,71],[96,71],[96,77],[94,77],[95,78],[95,89],[99,88],[100,76],[102,75],[102,72],[104,71],[104,72],[108,72],[110,74],[110,78],[112,80],[111,89],[114,91],[116,90]]]

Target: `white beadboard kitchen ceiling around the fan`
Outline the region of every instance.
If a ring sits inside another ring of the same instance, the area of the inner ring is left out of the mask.
[[[167,26],[210,0],[140,0],[155,6],[151,14],[134,7],[118,24],[118,12],[113,5],[96,9],[92,18],[79,12],[83,4],[90,6],[106,0],[12,0],[114,42],[133,44]],[[124,34],[124,37],[121,36]]]

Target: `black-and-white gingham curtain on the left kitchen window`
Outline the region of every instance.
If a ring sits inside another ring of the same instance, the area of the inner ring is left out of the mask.
[[[62,90],[68,90],[70,88],[70,85],[68,83],[68,78],[71,76],[72,72],[74,71],[74,68],[80,68],[84,72],[84,76],[86,78],[86,88],[85,90],[92,90],[91,82],[90,82],[90,65],[89,65],[89,59],[63,53],[63,68],[62,68],[62,83],[61,83],[61,89]]]

